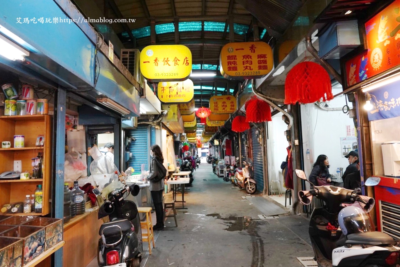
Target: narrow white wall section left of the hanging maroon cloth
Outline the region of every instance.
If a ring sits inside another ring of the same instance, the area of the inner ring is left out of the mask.
[[[272,121],[267,122],[268,127],[268,181],[271,188],[278,190],[271,181],[281,181],[281,191],[284,192],[284,180],[279,176],[280,165],[282,161],[286,160],[288,155],[286,148],[289,146],[288,141],[286,141],[286,136],[284,131],[287,130],[288,125],[282,120],[282,113],[278,113],[272,117]],[[271,192],[270,192],[271,193]]]

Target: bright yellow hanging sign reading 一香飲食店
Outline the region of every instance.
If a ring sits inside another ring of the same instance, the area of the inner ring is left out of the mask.
[[[186,80],[192,73],[192,52],[181,44],[146,46],[140,53],[140,72],[150,82]]]

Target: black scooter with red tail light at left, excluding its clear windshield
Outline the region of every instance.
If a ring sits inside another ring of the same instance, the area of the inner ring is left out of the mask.
[[[113,184],[120,188],[109,188],[106,199],[101,196],[98,189],[93,193],[104,203],[100,206],[98,217],[108,215],[110,222],[103,223],[99,230],[101,238],[98,241],[97,261],[98,265],[122,267],[139,267],[142,255],[142,233],[140,229],[140,217],[136,204],[133,201],[124,200],[124,195],[132,193],[138,195],[138,185]]]

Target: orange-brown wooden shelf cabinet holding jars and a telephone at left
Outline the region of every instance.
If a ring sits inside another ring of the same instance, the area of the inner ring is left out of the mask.
[[[25,147],[14,147],[14,135],[24,135]],[[38,135],[44,135],[44,146],[36,147]],[[64,138],[64,137],[62,137]],[[42,213],[30,215],[46,215],[50,213],[51,170],[52,170],[52,116],[25,115],[0,116],[0,142],[10,141],[11,148],[0,148],[0,173],[14,169],[14,161],[22,161],[22,172],[32,175],[32,159],[43,153],[43,179],[30,180],[0,180],[0,205],[23,202],[26,195],[33,195],[37,185],[42,185]],[[22,215],[12,213],[9,215]]]

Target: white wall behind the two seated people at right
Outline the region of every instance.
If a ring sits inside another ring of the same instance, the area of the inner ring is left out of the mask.
[[[332,88],[333,94],[341,91],[341,87]],[[321,154],[328,157],[331,174],[335,174],[338,167],[342,167],[344,171],[348,166],[348,160],[341,154],[340,137],[346,137],[346,125],[354,127],[354,122],[348,114],[342,112],[342,107],[346,104],[345,97],[341,95],[326,102],[329,108],[340,110],[326,111],[314,104],[301,105],[304,171],[307,176]],[[350,102],[348,105],[352,108]],[[306,157],[307,149],[310,149],[309,160]]]

